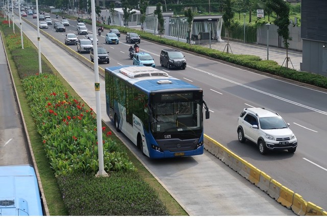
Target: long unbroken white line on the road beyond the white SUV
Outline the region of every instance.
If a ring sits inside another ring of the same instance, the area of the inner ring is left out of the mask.
[[[229,80],[229,79],[226,79],[226,78],[223,78],[223,77],[220,77],[220,76],[217,76],[217,75],[214,75],[212,74],[211,72],[207,72],[205,70],[202,70],[202,69],[198,69],[198,68],[195,68],[195,67],[192,67],[192,66],[189,66],[189,68],[192,68],[194,70],[197,70],[197,71],[200,71],[200,72],[204,72],[205,74],[207,75],[210,75],[210,76],[213,76],[213,77],[216,77],[216,78],[219,78],[221,80],[224,80],[224,81],[227,81],[227,82],[230,82],[230,83],[233,83],[233,84],[236,84],[236,85],[239,85],[239,86],[243,86],[244,88],[247,88],[247,89],[251,89],[253,91],[256,91],[256,92],[259,92],[259,93],[262,93],[262,94],[266,94],[266,95],[269,95],[271,96],[272,98],[275,98],[275,99],[279,99],[279,100],[282,100],[284,102],[288,102],[290,104],[293,104],[293,105],[297,105],[297,106],[300,106],[300,107],[303,107],[303,108],[306,108],[306,109],[309,109],[309,110],[312,110],[312,111],[316,111],[318,113],[321,113],[323,115],[327,115],[327,112],[325,111],[322,111],[322,110],[318,110],[316,108],[312,108],[312,107],[309,107],[309,106],[306,106],[306,105],[302,105],[300,103],[297,103],[297,102],[293,102],[291,100],[288,100],[288,99],[284,99],[278,95],[274,95],[274,94],[271,94],[271,93],[268,93],[268,92],[265,92],[265,91],[262,91],[262,90],[259,90],[259,89],[256,89],[256,88],[253,88],[253,87],[250,87],[250,86],[247,86],[247,85],[244,85],[242,83],[238,83],[238,82],[235,82],[235,81],[232,81],[232,80]]]

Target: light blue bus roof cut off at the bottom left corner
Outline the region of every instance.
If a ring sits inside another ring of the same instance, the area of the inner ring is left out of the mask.
[[[42,216],[43,209],[33,166],[0,166],[0,216]]]

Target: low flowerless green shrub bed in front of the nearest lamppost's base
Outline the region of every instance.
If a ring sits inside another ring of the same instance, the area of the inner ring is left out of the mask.
[[[135,172],[114,172],[110,177],[69,174],[58,177],[69,215],[169,215],[157,193]]]

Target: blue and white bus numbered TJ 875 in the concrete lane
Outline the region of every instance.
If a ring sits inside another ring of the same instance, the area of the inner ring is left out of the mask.
[[[203,154],[201,88],[148,66],[105,68],[106,111],[150,158]]]

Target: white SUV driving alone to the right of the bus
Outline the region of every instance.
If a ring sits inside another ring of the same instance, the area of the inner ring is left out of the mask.
[[[258,145],[260,154],[268,150],[288,150],[294,153],[297,139],[284,119],[265,108],[244,108],[238,118],[237,134],[240,142],[246,139]]]

